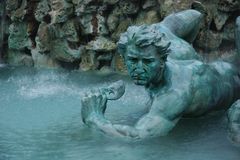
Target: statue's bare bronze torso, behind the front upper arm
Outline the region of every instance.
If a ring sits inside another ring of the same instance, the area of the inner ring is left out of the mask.
[[[198,60],[169,59],[167,87],[158,96],[171,90],[183,91],[187,101],[184,114],[201,115],[206,111],[230,106],[240,97],[240,78],[229,63],[217,61],[205,64]],[[173,106],[174,107],[174,106]]]

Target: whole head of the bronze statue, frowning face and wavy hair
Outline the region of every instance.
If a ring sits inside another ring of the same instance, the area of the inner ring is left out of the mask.
[[[134,83],[147,86],[162,80],[169,46],[156,25],[133,26],[121,35],[118,52]]]

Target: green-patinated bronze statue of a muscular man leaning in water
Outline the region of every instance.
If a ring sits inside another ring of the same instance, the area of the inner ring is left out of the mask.
[[[134,126],[106,119],[107,100],[124,94],[124,84],[117,82],[86,93],[82,99],[83,122],[107,134],[146,138],[166,135],[182,116],[231,106],[240,98],[237,65],[223,60],[204,63],[188,43],[194,40],[201,19],[198,11],[186,10],[161,23],[129,27],[121,35],[118,51],[134,83],[149,92],[151,108]]]

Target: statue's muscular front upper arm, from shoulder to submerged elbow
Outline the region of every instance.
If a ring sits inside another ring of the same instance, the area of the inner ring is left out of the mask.
[[[188,107],[188,97],[184,90],[167,91],[156,97],[149,113],[135,125],[140,138],[168,134]]]

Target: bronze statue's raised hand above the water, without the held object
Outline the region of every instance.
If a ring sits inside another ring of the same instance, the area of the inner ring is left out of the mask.
[[[91,125],[99,118],[103,118],[106,110],[107,96],[99,89],[92,90],[82,98],[82,120],[85,124]]]

